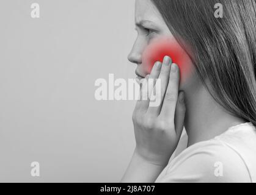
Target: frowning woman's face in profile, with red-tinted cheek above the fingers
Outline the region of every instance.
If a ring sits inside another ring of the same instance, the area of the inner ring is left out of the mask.
[[[137,39],[128,55],[130,62],[137,64],[137,79],[150,74],[156,61],[163,61],[169,55],[180,67],[180,90],[186,90],[192,83],[194,66],[188,54],[177,43],[164,19],[150,0],[136,0],[135,23]]]

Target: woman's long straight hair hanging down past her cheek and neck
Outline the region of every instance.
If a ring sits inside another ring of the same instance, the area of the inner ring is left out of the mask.
[[[187,52],[215,101],[256,126],[256,0],[152,2],[181,46],[191,46],[193,54]],[[214,16],[217,3],[223,18]]]

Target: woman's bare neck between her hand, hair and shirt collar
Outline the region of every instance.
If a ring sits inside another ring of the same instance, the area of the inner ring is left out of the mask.
[[[185,129],[188,146],[200,141],[210,140],[229,127],[244,123],[241,118],[231,115],[222,108],[205,87],[186,94]]]

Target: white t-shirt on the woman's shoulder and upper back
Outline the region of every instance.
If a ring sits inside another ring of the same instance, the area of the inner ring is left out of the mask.
[[[177,148],[178,149],[178,148]],[[251,122],[189,146],[156,179],[160,182],[256,182],[256,129]]]

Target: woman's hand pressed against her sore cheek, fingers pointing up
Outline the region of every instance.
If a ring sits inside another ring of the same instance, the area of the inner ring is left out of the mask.
[[[133,112],[134,152],[148,163],[165,166],[180,140],[185,118],[184,93],[178,91],[180,69],[166,56],[163,64],[155,63],[151,74],[145,78],[148,79],[161,79],[161,104],[150,107],[149,98],[137,101]],[[144,87],[148,85],[142,85],[141,97]],[[155,90],[153,86],[148,89],[152,90]]]

